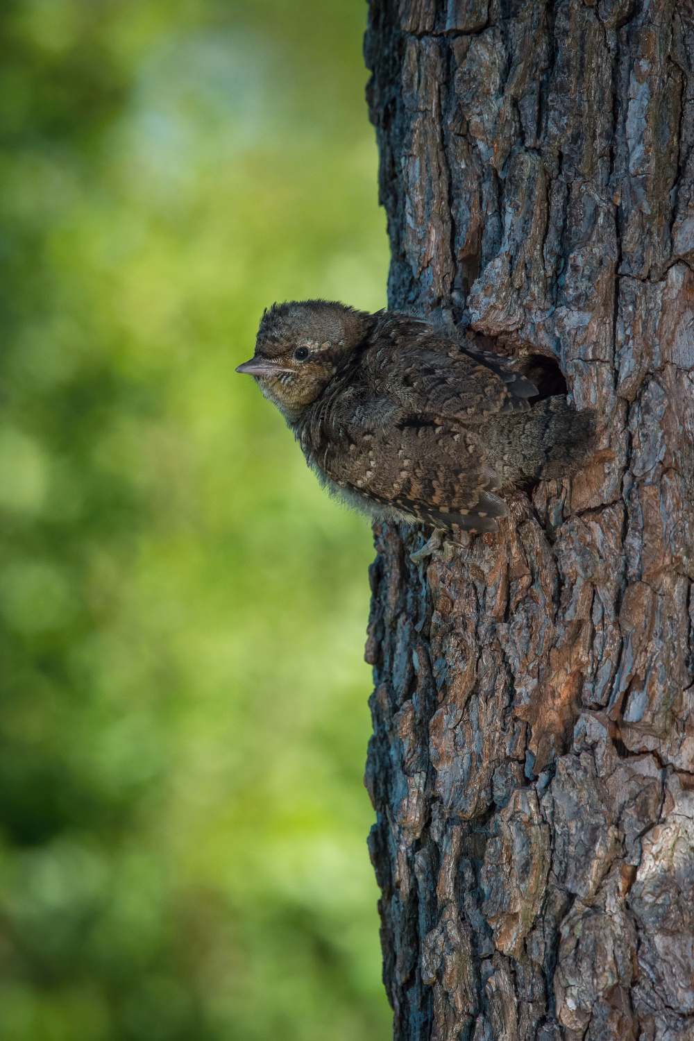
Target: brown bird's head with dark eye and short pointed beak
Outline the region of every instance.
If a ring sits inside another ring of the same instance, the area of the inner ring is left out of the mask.
[[[236,370],[255,378],[287,423],[295,423],[359,349],[375,319],[327,300],[273,304],[263,312],[255,354]]]

